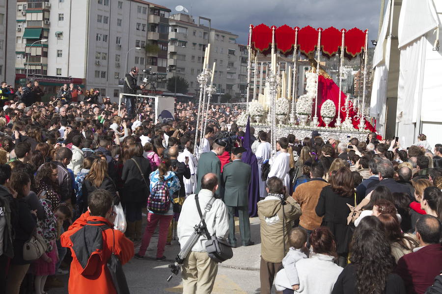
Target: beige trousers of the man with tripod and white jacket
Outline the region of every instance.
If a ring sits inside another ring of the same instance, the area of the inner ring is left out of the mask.
[[[182,267],[183,294],[212,293],[218,264],[210,259],[207,252],[191,251]]]

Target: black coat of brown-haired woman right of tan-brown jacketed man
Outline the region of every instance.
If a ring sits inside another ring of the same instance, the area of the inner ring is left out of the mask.
[[[322,188],[316,205],[316,214],[324,217],[323,225],[327,226],[336,239],[336,251],[338,254],[348,252],[351,240],[351,230],[347,225],[347,217],[350,213],[348,204],[355,206],[354,197],[343,197],[336,194],[331,186]]]

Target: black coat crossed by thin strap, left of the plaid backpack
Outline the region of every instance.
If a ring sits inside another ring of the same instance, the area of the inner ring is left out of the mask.
[[[133,158],[137,161],[144,174],[147,187],[135,162],[132,159],[128,159],[124,163],[123,173],[121,175],[121,179],[124,182],[124,195],[121,195],[121,199],[125,203],[146,201],[150,193],[149,175],[152,172],[150,169],[150,161],[142,156],[134,156]]]

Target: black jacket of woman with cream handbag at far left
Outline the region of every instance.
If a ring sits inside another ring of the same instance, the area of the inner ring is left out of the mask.
[[[34,232],[37,225],[36,217],[30,213],[28,202],[24,198],[15,199],[17,202],[18,218],[15,223],[12,224],[13,230],[13,247],[14,257],[11,259],[13,265],[27,265],[30,261],[23,259],[23,245],[27,242]]]

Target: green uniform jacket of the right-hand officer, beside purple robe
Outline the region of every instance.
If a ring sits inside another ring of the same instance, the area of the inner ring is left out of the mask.
[[[249,206],[251,168],[241,160],[235,160],[222,169],[224,203],[227,206]]]

